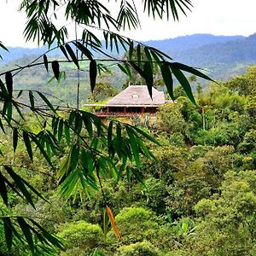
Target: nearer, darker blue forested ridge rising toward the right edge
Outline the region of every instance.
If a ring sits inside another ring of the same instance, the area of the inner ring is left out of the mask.
[[[183,61],[195,67],[205,67],[216,79],[230,79],[232,76],[244,73],[247,67],[255,64],[256,35],[248,38],[230,40],[216,44],[207,44],[181,52],[172,52],[178,61]]]

